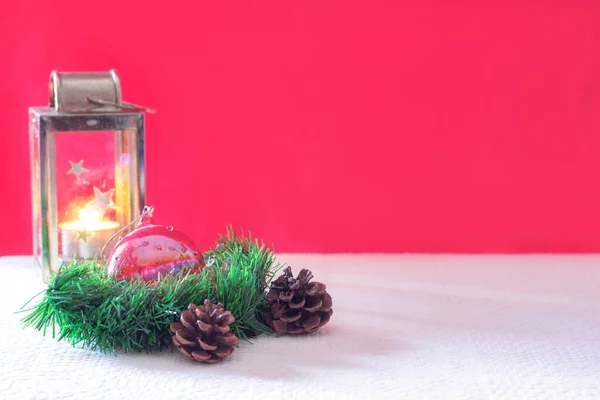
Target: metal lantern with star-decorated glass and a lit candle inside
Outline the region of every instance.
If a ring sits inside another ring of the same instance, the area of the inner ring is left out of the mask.
[[[44,279],[65,261],[100,257],[145,205],[145,109],[123,102],[117,72],[54,71],[49,94],[49,107],[29,109],[33,245]]]

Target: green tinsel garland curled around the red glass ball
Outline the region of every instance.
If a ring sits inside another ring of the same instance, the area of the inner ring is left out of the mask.
[[[262,311],[265,290],[279,269],[273,252],[229,230],[204,258],[199,274],[183,271],[153,283],[117,281],[103,264],[74,261],[50,278],[43,299],[25,310],[30,314],[23,322],[72,345],[110,353],[150,351],[171,344],[169,325],[180,311],[209,299],[235,316],[231,331],[240,339],[271,332]]]

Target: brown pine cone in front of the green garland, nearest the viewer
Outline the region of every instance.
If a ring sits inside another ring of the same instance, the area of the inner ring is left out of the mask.
[[[171,324],[173,343],[192,360],[216,363],[233,353],[233,347],[240,343],[229,332],[235,318],[223,310],[221,303],[214,305],[204,300],[203,306],[190,304],[181,313],[180,321]]]

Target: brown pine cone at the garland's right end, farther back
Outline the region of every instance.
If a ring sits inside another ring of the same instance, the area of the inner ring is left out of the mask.
[[[271,282],[265,319],[277,334],[315,332],[329,322],[331,296],[323,283],[310,282],[312,278],[307,269],[294,278],[292,268],[286,267],[283,275]]]

